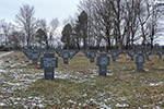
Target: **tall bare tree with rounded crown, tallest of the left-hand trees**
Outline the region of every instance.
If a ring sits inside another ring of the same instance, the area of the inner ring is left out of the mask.
[[[33,36],[36,28],[36,20],[34,17],[34,7],[24,4],[20,8],[20,12],[15,15],[15,22],[24,32],[27,46],[30,46],[32,40],[34,39]]]

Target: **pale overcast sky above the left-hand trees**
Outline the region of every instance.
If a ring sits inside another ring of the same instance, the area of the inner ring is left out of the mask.
[[[0,0],[0,20],[14,22],[15,14],[19,13],[20,7],[30,4],[35,7],[35,17],[50,21],[57,17],[62,24],[69,15],[78,12],[80,0]]]

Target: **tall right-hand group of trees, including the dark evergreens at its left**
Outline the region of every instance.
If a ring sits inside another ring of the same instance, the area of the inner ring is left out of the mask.
[[[154,0],[81,0],[80,14],[68,20],[61,41],[66,48],[153,49],[162,32],[163,3]]]

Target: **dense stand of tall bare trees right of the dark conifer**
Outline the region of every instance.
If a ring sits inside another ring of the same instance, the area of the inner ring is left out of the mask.
[[[125,46],[133,47],[137,43],[153,45],[162,14],[159,10],[153,11],[152,2],[154,1],[81,0],[79,10],[84,10],[87,14],[86,41],[98,47],[102,43],[108,48],[117,46],[120,50]]]

